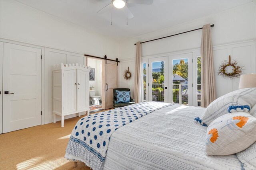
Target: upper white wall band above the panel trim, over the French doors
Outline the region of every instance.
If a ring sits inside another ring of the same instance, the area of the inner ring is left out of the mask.
[[[213,46],[253,40],[256,37],[256,5],[251,2],[243,6],[206,16],[198,20],[182,23],[152,33],[147,33],[120,42],[120,61],[133,59],[136,54],[137,41],[147,41],[159,37],[181,33],[202,27],[207,23],[214,24],[211,28]],[[171,16],[170,16],[171,17]],[[175,16],[173,16],[175,17]],[[168,20],[168,18],[167,18]],[[154,23],[152,23],[154,24]],[[151,41],[142,44],[142,57],[197,49],[201,46],[202,31],[193,31]]]

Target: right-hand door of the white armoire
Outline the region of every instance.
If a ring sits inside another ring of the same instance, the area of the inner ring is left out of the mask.
[[[88,72],[77,69],[77,111],[89,108],[88,80]],[[86,88],[88,89],[86,90]]]

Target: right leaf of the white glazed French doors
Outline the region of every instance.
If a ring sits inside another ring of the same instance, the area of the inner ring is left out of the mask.
[[[193,53],[169,56],[169,103],[193,106]]]

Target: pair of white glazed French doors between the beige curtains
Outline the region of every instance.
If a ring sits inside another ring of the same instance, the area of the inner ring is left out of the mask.
[[[143,59],[143,101],[197,106],[192,61],[193,53]]]

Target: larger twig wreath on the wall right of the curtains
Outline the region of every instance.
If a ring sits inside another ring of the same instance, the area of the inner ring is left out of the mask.
[[[238,66],[237,61],[231,61],[230,56],[228,56],[228,61],[224,60],[220,64],[218,75],[224,78],[239,77],[240,74],[242,74],[242,68],[243,67]]]

